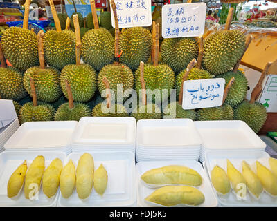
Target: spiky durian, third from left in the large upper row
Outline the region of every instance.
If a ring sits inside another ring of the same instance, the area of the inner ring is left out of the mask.
[[[114,38],[106,28],[91,29],[82,37],[82,59],[97,71],[114,61]]]

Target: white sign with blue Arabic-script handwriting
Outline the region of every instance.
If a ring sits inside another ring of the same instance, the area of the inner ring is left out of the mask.
[[[211,108],[222,105],[224,78],[185,81],[183,86],[183,108]]]

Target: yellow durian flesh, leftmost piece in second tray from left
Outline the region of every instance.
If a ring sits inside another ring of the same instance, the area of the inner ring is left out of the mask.
[[[75,166],[72,160],[69,160],[66,166],[64,166],[64,168],[62,169],[62,173],[60,175],[60,191],[63,198],[69,198],[72,195],[75,184]]]

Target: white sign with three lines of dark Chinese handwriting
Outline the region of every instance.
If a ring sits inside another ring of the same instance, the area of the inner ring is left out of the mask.
[[[161,10],[163,38],[196,37],[204,34],[206,3],[165,5]]]

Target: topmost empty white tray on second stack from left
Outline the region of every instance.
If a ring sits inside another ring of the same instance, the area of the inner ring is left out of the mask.
[[[134,117],[82,117],[74,131],[72,144],[134,145],[136,119]]]

